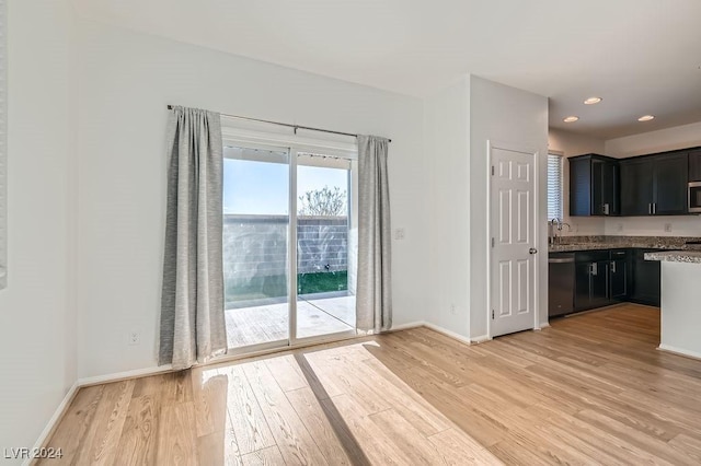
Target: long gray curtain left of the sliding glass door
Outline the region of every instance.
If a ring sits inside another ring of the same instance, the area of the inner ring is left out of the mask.
[[[186,369],[226,353],[219,114],[174,107],[168,127],[168,206],[159,364]]]

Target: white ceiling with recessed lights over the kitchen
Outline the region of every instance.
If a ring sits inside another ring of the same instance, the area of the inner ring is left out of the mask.
[[[600,139],[701,120],[699,0],[73,1],[96,21],[414,96],[476,74],[550,97],[551,127]],[[604,102],[585,106],[593,95]]]

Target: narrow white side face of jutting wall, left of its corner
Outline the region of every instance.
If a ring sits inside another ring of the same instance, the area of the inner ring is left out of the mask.
[[[426,321],[470,335],[470,77],[425,101],[432,170],[430,287]]]

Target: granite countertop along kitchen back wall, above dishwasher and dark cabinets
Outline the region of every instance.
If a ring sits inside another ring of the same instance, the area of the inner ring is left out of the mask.
[[[575,251],[596,249],[670,249],[670,251],[699,251],[701,245],[687,245],[690,241],[700,241],[699,237],[689,236],[564,236],[562,243],[549,245],[549,253],[564,253]]]

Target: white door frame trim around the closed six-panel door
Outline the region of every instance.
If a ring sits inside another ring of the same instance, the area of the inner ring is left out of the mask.
[[[492,329],[492,295],[493,295],[493,286],[494,283],[492,283],[492,260],[494,258],[494,254],[493,254],[493,248],[492,248],[492,235],[494,234],[493,232],[493,225],[492,225],[492,166],[493,166],[493,154],[492,151],[494,149],[501,149],[501,150],[505,150],[505,151],[509,151],[509,152],[518,152],[518,153],[522,153],[524,155],[526,154],[530,154],[530,156],[532,158],[532,162],[533,162],[533,246],[538,248],[539,246],[539,238],[540,238],[540,212],[543,209],[543,206],[541,206],[541,201],[540,201],[540,151],[532,148],[532,147],[528,147],[528,145],[517,145],[515,143],[509,143],[509,142],[503,142],[503,141],[494,141],[494,140],[490,140],[487,139],[486,141],[486,177],[487,177],[487,183],[486,183],[486,242],[485,242],[485,247],[487,251],[487,260],[486,260],[486,289],[487,289],[487,293],[486,293],[486,308],[484,310],[484,313],[486,315],[486,339],[491,340],[492,338],[494,338],[493,335],[493,329]],[[539,251],[538,253],[541,253],[541,251]],[[542,253],[548,254],[548,251],[544,251]],[[535,273],[533,273],[533,288],[532,288],[532,293],[533,293],[533,327],[531,329],[536,330],[536,329],[540,329],[540,318],[539,318],[539,314],[540,314],[540,265],[539,265],[539,256],[538,254],[535,255]]]

